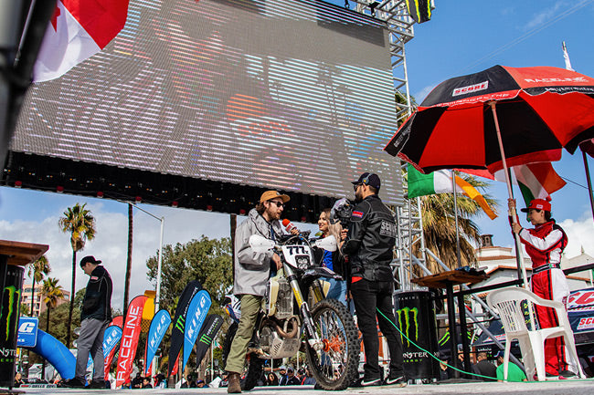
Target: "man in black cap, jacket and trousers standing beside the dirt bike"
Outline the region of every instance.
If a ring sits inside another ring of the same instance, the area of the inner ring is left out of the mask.
[[[357,386],[404,386],[402,344],[396,328],[392,326],[396,318],[392,303],[394,276],[390,263],[396,245],[396,222],[392,212],[377,196],[380,187],[377,174],[364,172],[352,183],[357,204],[342,252],[348,256],[351,267],[351,295],[366,354],[365,375]],[[376,308],[381,314],[376,313]],[[384,381],[378,363],[376,318],[390,351],[390,372]]]

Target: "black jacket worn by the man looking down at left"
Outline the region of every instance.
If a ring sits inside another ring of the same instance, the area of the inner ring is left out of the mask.
[[[80,321],[85,318],[97,318],[111,321],[111,276],[102,265],[95,267],[90,274],[85,298],[82,301]]]

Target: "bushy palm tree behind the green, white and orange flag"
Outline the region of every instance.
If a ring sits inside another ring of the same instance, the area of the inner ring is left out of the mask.
[[[475,177],[459,175],[479,191],[489,186],[488,182],[480,181]],[[494,211],[494,207],[497,205],[496,201],[488,194],[483,194],[483,196],[487,203],[493,207]],[[473,265],[476,262],[476,258],[472,244],[479,244],[480,230],[472,219],[480,216],[483,210],[478,203],[475,203],[472,199],[460,193],[457,194],[456,202],[458,204],[461,265]],[[420,208],[426,248],[437,255],[445,265],[451,268],[457,267],[456,220],[454,217],[453,193],[421,196]],[[413,252],[419,254],[418,244],[413,248]],[[443,271],[440,265],[430,256],[428,256],[427,265],[431,273],[440,273]]]

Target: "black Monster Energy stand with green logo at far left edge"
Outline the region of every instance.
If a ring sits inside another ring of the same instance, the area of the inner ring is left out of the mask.
[[[23,272],[23,267],[6,265],[0,309],[0,387],[12,387],[15,382],[16,329],[20,316]]]

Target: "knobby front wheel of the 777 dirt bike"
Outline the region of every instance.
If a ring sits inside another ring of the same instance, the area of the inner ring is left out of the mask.
[[[313,326],[321,349],[307,343],[307,362],[324,390],[345,390],[358,376],[359,342],[353,317],[345,305],[324,299],[313,306]]]

